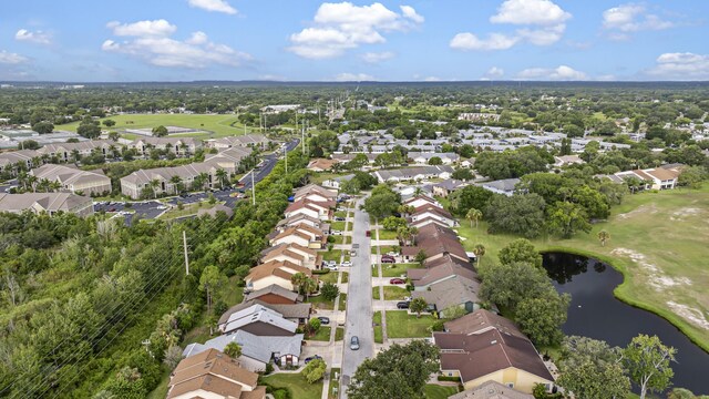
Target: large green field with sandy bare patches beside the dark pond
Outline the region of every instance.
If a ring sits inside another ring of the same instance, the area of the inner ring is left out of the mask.
[[[571,239],[541,237],[533,243],[543,252],[565,250],[604,260],[623,273],[615,289],[619,299],[656,313],[709,351],[709,185],[701,190],[674,190],[627,195],[613,216],[594,225],[590,234]],[[510,235],[486,234],[486,225],[459,234],[466,250],[486,248],[482,264],[497,259]],[[602,246],[600,229],[610,234]]]

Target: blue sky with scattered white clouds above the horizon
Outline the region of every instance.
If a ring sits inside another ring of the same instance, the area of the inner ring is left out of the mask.
[[[709,80],[709,0],[2,0],[0,81]]]

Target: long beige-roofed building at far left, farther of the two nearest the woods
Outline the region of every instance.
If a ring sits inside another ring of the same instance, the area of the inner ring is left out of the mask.
[[[39,181],[61,184],[62,191],[90,196],[111,193],[111,178],[103,171],[82,171],[76,167],[47,164],[30,172]]]

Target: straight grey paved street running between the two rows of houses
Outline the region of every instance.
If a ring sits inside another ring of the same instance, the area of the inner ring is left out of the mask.
[[[345,348],[342,349],[342,385],[349,382],[357,367],[374,354],[374,332],[372,328],[372,268],[370,262],[370,238],[366,232],[369,229],[369,214],[360,211],[364,200],[357,202],[354,206],[354,228],[352,233],[352,246],[357,256],[351,257],[350,283],[347,294],[347,321],[345,335]],[[359,337],[359,350],[350,350],[350,339]],[[342,388],[345,391],[345,387]],[[342,398],[347,396],[342,392]]]

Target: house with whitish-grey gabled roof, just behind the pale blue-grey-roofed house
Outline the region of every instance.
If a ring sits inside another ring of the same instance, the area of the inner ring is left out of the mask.
[[[229,315],[226,323],[219,326],[224,334],[244,330],[257,336],[292,336],[298,323],[290,321],[269,307],[251,304],[245,309]]]

